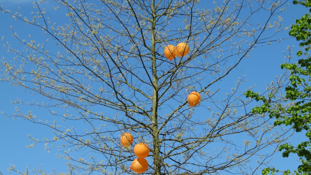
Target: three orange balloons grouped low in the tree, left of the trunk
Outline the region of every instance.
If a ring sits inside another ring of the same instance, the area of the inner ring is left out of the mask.
[[[132,145],[133,136],[126,132],[121,136],[121,144],[125,147]],[[138,157],[133,160],[130,169],[135,173],[144,173],[148,169],[148,162],[145,159],[149,155],[150,149],[144,143],[138,143],[134,147],[134,154]]]

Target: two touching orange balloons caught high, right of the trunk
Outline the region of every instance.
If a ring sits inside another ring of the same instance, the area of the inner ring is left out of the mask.
[[[189,52],[189,45],[186,43],[179,43],[176,47],[174,45],[167,45],[164,49],[164,54],[167,59],[172,60],[176,57],[185,56]]]

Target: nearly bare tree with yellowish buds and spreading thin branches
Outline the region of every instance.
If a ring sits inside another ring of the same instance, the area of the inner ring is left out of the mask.
[[[7,116],[49,127],[54,138],[30,137],[48,150],[60,147],[71,173],[132,174],[135,155],[120,144],[123,132],[149,144],[146,174],[155,175],[252,174],[274,153],[265,149],[286,139],[287,130],[250,112],[251,101],[239,91],[244,78],[225,96],[218,93],[220,80],[251,50],[280,39],[277,16],[286,0],[50,1],[65,24],[42,8],[46,1],[35,1],[31,19],[1,7],[44,31],[46,40],[22,39],[12,28],[24,48],[3,38],[16,57],[3,59],[1,80],[49,99],[14,103],[44,108],[53,122],[18,109]],[[189,54],[169,61],[163,48],[179,42],[190,46]],[[202,95],[196,107],[187,105],[192,91]]]

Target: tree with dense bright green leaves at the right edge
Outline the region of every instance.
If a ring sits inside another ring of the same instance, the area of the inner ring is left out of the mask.
[[[293,1],[294,4],[301,4],[305,7],[311,7],[311,1]],[[311,12],[311,8],[309,8]],[[245,92],[246,97],[261,101],[263,104],[253,108],[253,113],[269,113],[269,117],[275,119],[274,125],[291,126],[296,132],[305,131],[306,140],[294,146],[292,144],[282,144],[279,150],[283,151],[282,156],[288,157],[290,153],[297,154],[300,159],[300,165],[295,170],[295,174],[309,174],[311,172],[311,57],[308,51],[311,48],[311,15],[306,13],[296,23],[291,26],[290,36],[294,36],[301,41],[299,46],[304,49],[296,54],[303,57],[295,64],[281,64],[281,69],[289,71],[289,84],[285,87],[284,98],[276,98],[276,90],[268,93],[268,97],[260,96],[251,90]],[[289,57],[290,58],[290,57]],[[276,88],[278,89],[278,88]],[[278,89],[280,90],[280,89]],[[287,103],[287,104],[285,104]],[[265,168],[262,174],[278,172],[275,168]],[[283,173],[289,174],[286,170]]]

